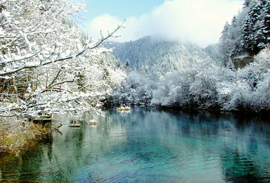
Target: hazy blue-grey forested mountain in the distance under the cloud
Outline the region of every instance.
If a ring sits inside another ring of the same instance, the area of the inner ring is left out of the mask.
[[[147,73],[165,74],[184,65],[214,63],[200,46],[168,41],[160,37],[147,36],[136,41],[112,42],[107,47],[115,48],[113,55],[120,59],[122,64]]]

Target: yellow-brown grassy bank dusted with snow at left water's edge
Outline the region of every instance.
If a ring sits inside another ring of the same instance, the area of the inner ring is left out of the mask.
[[[13,153],[27,149],[46,137],[49,125],[28,122],[25,118],[0,118],[0,153]]]

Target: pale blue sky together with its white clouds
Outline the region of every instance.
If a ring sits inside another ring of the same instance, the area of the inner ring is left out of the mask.
[[[219,42],[226,21],[241,11],[244,0],[85,0],[83,28],[94,39],[115,30],[115,42],[152,35],[205,47]]]

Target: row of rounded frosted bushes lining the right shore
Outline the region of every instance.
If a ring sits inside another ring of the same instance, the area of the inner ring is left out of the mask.
[[[243,69],[189,65],[160,77],[152,103],[158,106],[221,108],[226,111],[269,111],[270,49]]]

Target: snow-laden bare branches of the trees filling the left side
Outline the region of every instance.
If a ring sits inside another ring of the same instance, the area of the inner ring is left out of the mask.
[[[65,0],[0,2],[0,115],[98,112],[120,84],[117,61],[101,43],[122,24],[88,39],[73,23],[83,10]]]

